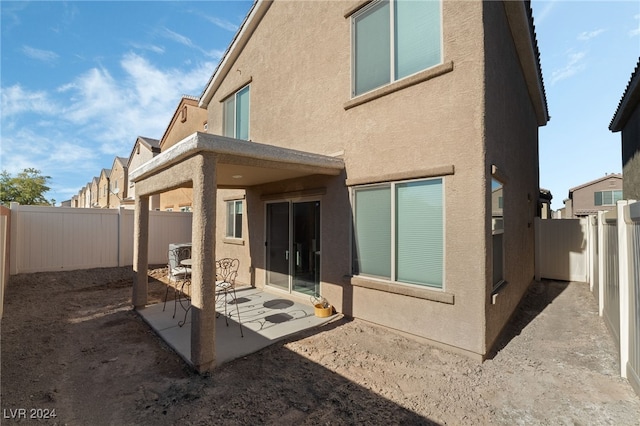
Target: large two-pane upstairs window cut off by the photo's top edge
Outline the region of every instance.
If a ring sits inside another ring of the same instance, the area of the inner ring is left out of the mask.
[[[353,96],[442,62],[440,1],[382,0],[352,18]]]

